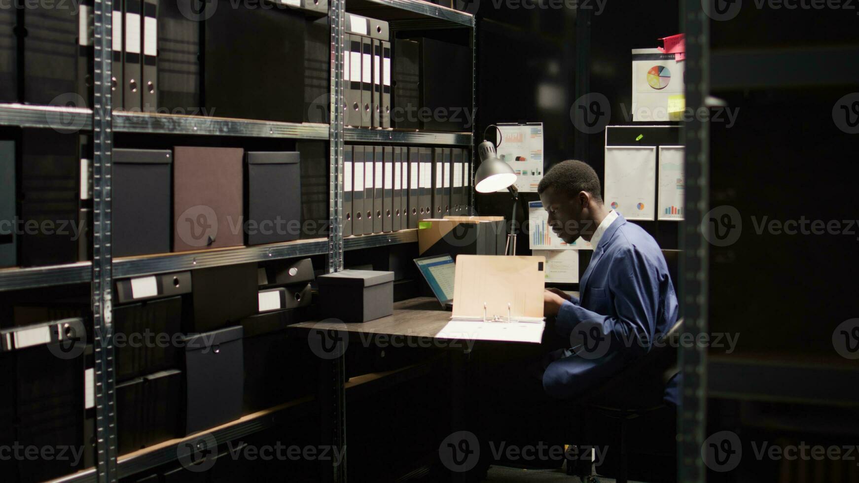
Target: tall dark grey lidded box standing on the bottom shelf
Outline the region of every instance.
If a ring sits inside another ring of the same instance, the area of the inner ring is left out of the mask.
[[[186,434],[241,418],[242,333],[237,326],[186,339]]]

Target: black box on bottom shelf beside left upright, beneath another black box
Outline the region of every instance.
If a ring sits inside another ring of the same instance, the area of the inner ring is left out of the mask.
[[[117,384],[119,453],[180,437],[181,394],[182,372],[176,369]]]

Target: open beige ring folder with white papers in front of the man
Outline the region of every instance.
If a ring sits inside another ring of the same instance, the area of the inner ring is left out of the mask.
[[[444,339],[542,340],[545,257],[456,257],[454,314]]]

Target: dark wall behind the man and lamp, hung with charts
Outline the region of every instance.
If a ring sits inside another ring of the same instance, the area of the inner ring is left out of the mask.
[[[656,39],[679,33],[679,5],[676,0],[606,2],[602,9],[591,4],[591,9],[528,10],[510,9],[506,2],[500,8],[492,1],[480,3],[476,142],[483,141],[489,124],[542,122],[545,170],[578,158],[602,180],[605,131],[576,130],[570,107],[582,94],[600,93],[611,104],[608,124],[631,124],[624,116],[631,111],[631,49],[655,47]],[[494,141],[491,131],[487,136]],[[536,193],[521,197],[539,199]],[[475,204],[479,214],[510,217],[507,194],[480,194]],[[526,216],[520,208],[517,220]],[[678,223],[640,224],[662,248],[678,248]],[[528,253],[527,237],[517,241],[517,251]]]

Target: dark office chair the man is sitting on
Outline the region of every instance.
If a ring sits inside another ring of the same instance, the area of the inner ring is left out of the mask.
[[[680,318],[659,341],[675,339],[682,328],[683,319]],[[673,407],[665,401],[665,389],[667,383],[678,373],[677,344],[655,344],[642,359],[624,368],[580,401],[582,420],[586,420],[588,411],[594,411],[620,422],[620,468],[616,478],[618,483],[627,481],[627,421],[662,408]],[[582,439],[586,438],[587,435],[582,435]],[[574,474],[583,482],[594,481],[592,465],[591,461],[568,459],[567,474]]]

